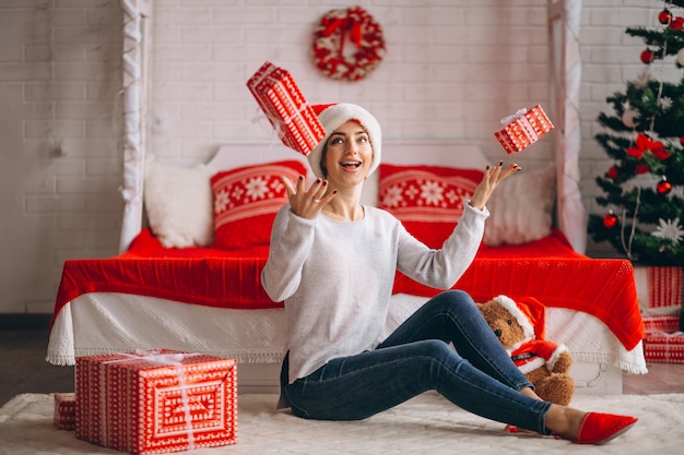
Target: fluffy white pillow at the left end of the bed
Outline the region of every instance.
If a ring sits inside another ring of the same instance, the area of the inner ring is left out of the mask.
[[[152,232],[165,248],[207,247],[214,232],[213,171],[194,167],[145,163],[144,203]]]

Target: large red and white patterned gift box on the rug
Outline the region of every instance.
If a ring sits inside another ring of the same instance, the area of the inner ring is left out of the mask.
[[[76,358],[76,438],[132,454],[237,442],[235,359],[154,350]]]

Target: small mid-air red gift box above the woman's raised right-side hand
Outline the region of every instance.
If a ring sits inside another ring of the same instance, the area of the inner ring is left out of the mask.
[[[502,124],[506,128],[494,135],[508,154],[522,151],[553,130],[553,123],[539,105],[529,110],[518,110],[515,115],[503,119]]]

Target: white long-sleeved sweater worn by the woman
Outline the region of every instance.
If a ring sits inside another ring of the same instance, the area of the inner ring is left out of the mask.
[[[290,383],[381,342],[397,270],[431,287],[453,286],[474,259],[488,216],[486,208],[463,205],[440,250],[376,207],[365,206],[359,221],[307,219],[288,204],[281,208],[261,280],[271,299],[285,302]]]

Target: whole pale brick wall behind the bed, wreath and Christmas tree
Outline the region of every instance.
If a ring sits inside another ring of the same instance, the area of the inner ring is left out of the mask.
[[[312,26],[339,2],[155,0],[151,152],[181,163],[219,144],[270,141],[245,87],[264,61],[287,68],[311,103],[370,109],[388,140],[481,141],[520,107],[550,106],[546,0],[372,0],[388,53],[357,83],[312,67]],[[582,191],[608,167],[593,144],[605,96],[641,70],[627,25],[651,0],[587,0],[582,10]],[[116,253],[121,202],[122,12],[117,0],[0,0],[0,313],[49,312],[68,258]],[[551,159],[551,140],[516,157]]]

